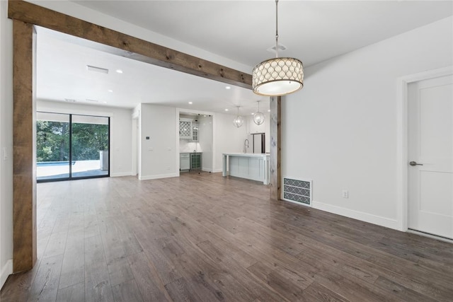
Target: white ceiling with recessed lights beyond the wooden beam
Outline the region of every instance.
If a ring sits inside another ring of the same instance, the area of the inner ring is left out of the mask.
[[[78,44],[79,43],[79,44]],[[241,114],[268,110],[268,98],[251,90],[95,50],[86,41],[38,28],[38,100],[134,108],[139,103],[202,112]],[[108,69],[108,74],[87,66]],[[122,74],[116,72],[122,70]],[[226,89],[226,87],[230,89]],[[111,91],[111,92],[110,92]],[[192,102],[193,104],[189,104]],[[229,111],[226,112],[225,109]]]

